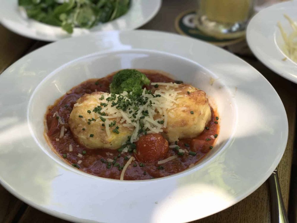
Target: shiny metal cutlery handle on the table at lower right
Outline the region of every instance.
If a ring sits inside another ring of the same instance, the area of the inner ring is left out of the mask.
[[[282,200],[277,169],[273,171],[268,181],[271,194],[272,223],[289,223],[284,201]]]

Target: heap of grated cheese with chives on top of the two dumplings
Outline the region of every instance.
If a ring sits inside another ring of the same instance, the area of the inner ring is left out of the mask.
[[[176,98],[180,96],[178,94],[181,93],[181,91],[175,89],[175,87],[179,86],[176,83],[153,84],[168,86],[168,89],[156,89],[154,94],[152,94],[144,88],[142,95],[140,95],[136,101],[134,101],[135,99],[129,98],[127,92],[123,92],[122,94],[102,92],[101,95],[103,95],[104,98],[100,100],[98,99],[100,95],[94,95],[94,99],[97,100],[99,104],[105,104],[104,107],[101,107],[100,112],[105,112],[106,114],[102,117],[106,119],[105,131],[108,137],[112,134],[116,134],[112,132],[114,127],[109,126],[114,120],[116,120],[117,123],[121,123],[124,127],[134,128],[130,142],[138,141],[139,137],[143,134],[160,133],[163,131],[163,128],[166,128],[168,120],[166,110],[176,108]],[[156,97],[156,95],[158,96]],[[110,98],[114,99],[110,100]],[[116,104],[123,104],[123,101],[132,103],[125,107],[124,110],[121,109],[121,107],[117,108],[118,106],[115,106]],[[80,106],[80,104],[77,104],[76,106]],[[95,116],[98,116],[96,112],[94,114]],[[93,117],[93,112],[91,115]],[[172,115],[173,114],[171,114],[171,116]],[[101,122],[99,117],[97,117],[96,122]],[[91,121],[91,124],[92,123],[94,123],[94,121]],[[121,129],[119,129],[119,132],[121,132]]]

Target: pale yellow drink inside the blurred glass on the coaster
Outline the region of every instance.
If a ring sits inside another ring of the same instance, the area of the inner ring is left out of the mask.
[[[211,21],[237,23],[246,21],[252,0],[200,0],[199,13]]]

